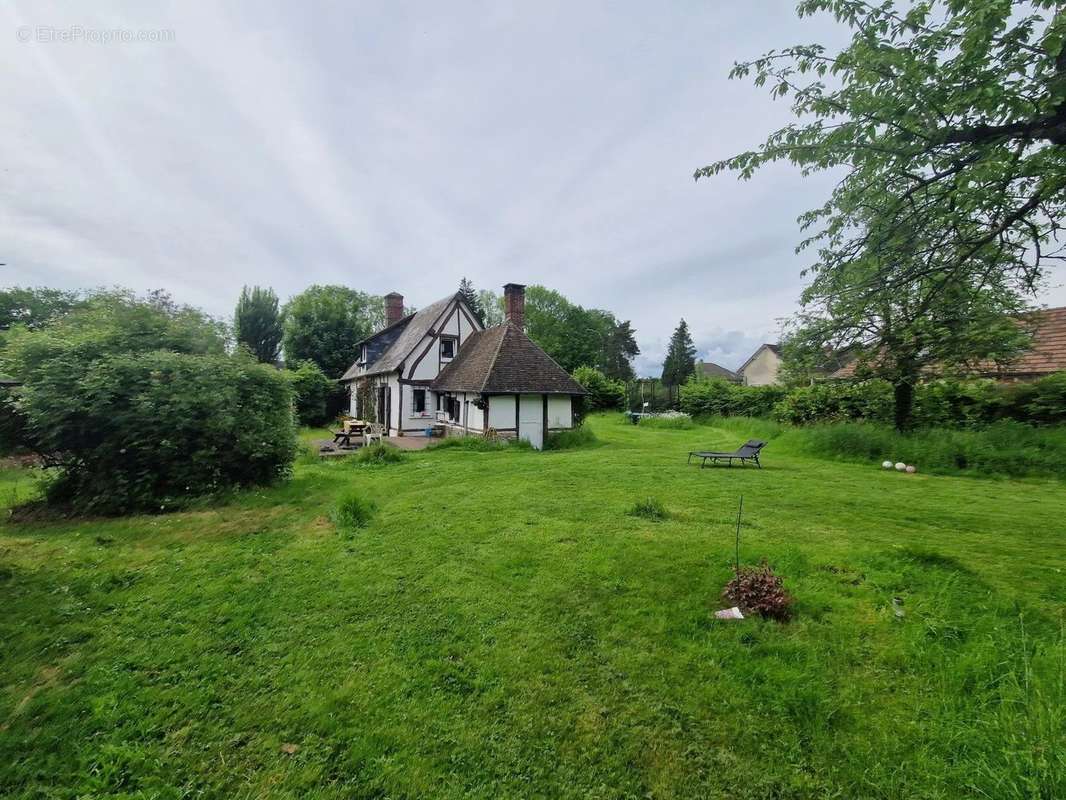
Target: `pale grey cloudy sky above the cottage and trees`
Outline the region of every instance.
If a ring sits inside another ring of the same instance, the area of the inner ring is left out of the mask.
[[[829,177],[692,173],[788,119],[732,62],[839,43],[830,19],[791,0],[221,5],[0,0],[0,286],[162,287],[228,316],[243,284],[424,305],[464,275],[537,283],[631,319],[642,373],[681,317],[734,368],[794,309],[795,218]]]

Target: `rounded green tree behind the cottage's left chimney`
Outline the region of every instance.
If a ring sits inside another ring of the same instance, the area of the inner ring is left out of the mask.
[[[355,359],[355,345],[384,322],[384,301],[346,286],[308,287],[284,308],[286,362],[311,361],[340,378]]]

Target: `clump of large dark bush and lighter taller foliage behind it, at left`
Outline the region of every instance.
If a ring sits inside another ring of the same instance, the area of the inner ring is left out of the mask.
[[[0,367],[17,444],[60,467],[49,498],[77,511],[172,508],[272,481],[295,452],[292,393],[225,354],[225,326],[161,292],[101,292],[6,334]]]

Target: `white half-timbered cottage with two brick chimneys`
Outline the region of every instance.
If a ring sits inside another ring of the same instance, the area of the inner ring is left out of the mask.
[[[483,329],[458,293],[404,316],[403,295],[385,297],[386,325],[358,342],[340,379],[353,416],[381,422],[390,436],[442,423],[451,434],[523,438],[574,426],[587,394],[526,335],[526,287],[503,287],[505,321]]]

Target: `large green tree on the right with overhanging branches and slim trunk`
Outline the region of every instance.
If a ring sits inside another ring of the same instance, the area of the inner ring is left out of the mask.
[[[738,64],[801,121],[758,149],[696,172],[748,177],[786,159],[843,169],[814,233],[813,281],[793,355],[846,348],[893,385],[898,428],[931,366],[1006,359],[1023,331],[1006,317],[1062,257],[1066,203],[1066,12],[1051,0],[804,0],[853,30]],[[826,78],[831,78],[826,81]]]

